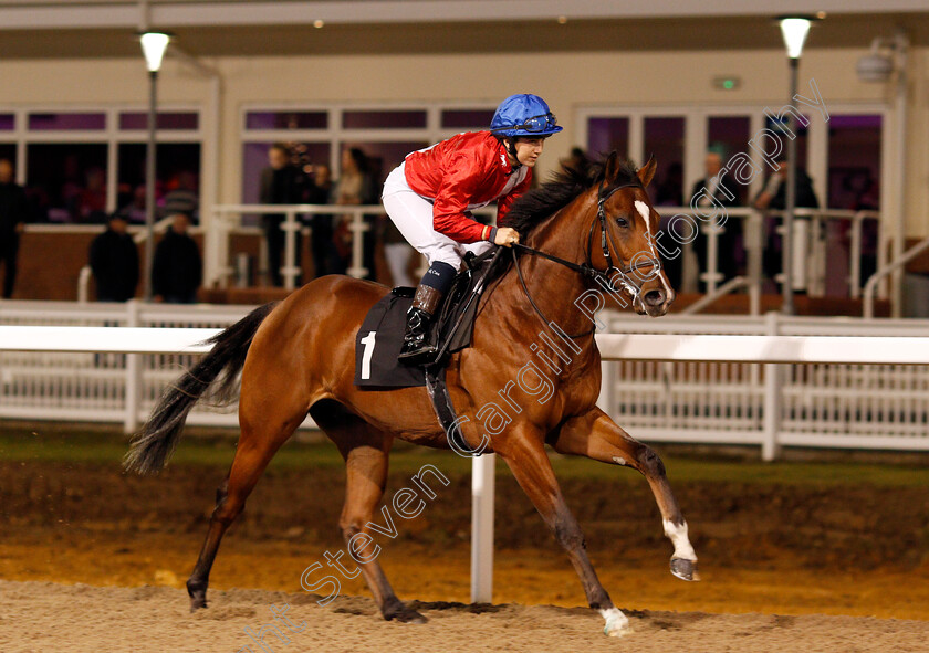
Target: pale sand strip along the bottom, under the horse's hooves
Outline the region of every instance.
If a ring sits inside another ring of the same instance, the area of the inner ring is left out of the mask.
[[[133,651],[213,653],[261,649],[246,629],[272,621],[283,608],[295,631],[289,643],[268,633],[269,650],[325,651],[635,651],[858,653],[927,651],[929,623],[853,617],[781,617],[701,612],[633,612],[633,632],[620,639],[598,631],[602,620],[583,608],[469,607],[418,603],[425,625],[385,622],[370,599],[346,597],[325,608],[306,593],[261,590],[215,592],[207,610],[190,614],[186,594],[171,588],[95,588],[0,581],[0,647],[4,653]],[[80,605],[80,610],[75,607]],[[267,631],[265,631],[267,632]],[[15,642],[13,639],[15,638]]]

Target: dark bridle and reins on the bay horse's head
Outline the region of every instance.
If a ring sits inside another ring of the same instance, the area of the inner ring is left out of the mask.
[[[542,322],[549,324],[549,318],[542,313],[542,309],[539,308],[539,305],[535,304],[535,301],[532,298],[532,294],[529,292],[529,287],[525,284],[525,278],[523,278],[522,268],[520,267],[519,260],[516,257],[516,250],[521,252],[525,252],[526,254],[532,254],[535,256],[542,256],[543,259],[547,259],[559,265],[567,267],[568,270],[573,270],[578,274],[593,280],[595,283],[603,286],[607,292],[610,293],[620,293],[622,291],[626,291],[633,298],[635,303],[636,299],[639,298],[641,295],[641,286],[646,280],[641,278],[638,274],[634,274],[641,268],[651,268],[651,272],[648,274],[648,277],[661,272],[661,261],[657,256],[651,256],[647,259],[643,259],[638,254],[635,256],[635,260],[629,263],[628,265],[624,265],[619,267],[613,263],[613,253],[610,249],[616,249],[616,244],[613,241],[613,238],[609,235],[609,230],[606,225],[606,202],[616,193],[616,191],[629,188],[629,187],[637,187],[643,188],[641,183],[623,183],[620,186],[615,186],[610,188],[608,191],[604,192],[605,182],[601,182],[599,188],[597,189],[597,214],[591,221],[591,229],[587,232],[587,260],[582,263],[577,264],[572,261],[567,261],[565,259],[561,259],[560,256],[554,256],[549,254],[547,252],[543,252],[541,250],[536,250],[535,247],[530,247],[528,245],[523,245],[520,243],[514,243],[511,247],[512,255],[513,255],[513,265],[516,268],[516,275],[520,278],[520,285],[522,285],[523,293],[525,294],[529,303],[532,305],[535,313],[539,317],[542,318]],[[592,261],[592,252],[593,252],[593,242],[594,242],[594,229],[599,222],[601,225],[601,247],[603,249],[603,256],[606,260],[606,270],[597,270],[593,265]],[[617,255],[618,259],[618,255]],[[622,261],[619,261],[622,264]],[[618,277],[619,285],[617,286],[614,283],[614,280]],[[637,283],[638,282],[638,283]],[[583,331],[581,334],[568,335],[570,338],[581,338],[583,336],[588,336],[594,333],[596,327],[591,328],[588,331]]]

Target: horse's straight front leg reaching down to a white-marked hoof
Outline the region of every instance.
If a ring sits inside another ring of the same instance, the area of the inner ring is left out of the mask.
[[[541,434],[524,428],[512,433],[505,445],[497,446],[494,443],[494,446],[497,453],[507,461],[520,487],[542,515],[542,519],[554,533],[555,539],[567,551],[571,564],[581,577],[587,603],[598,610],[606,620],[604,632],[613,636],[627,633],[629,620],[613,605],[609,594],[594,571],[594,566],[591,565],[584,534],[577,519],[567,508]]]

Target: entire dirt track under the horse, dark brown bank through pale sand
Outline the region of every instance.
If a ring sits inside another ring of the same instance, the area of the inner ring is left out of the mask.
[[[633,611],[634,634],[616,642],[580,608],[567,559],[509,476],[498,478],[492,607],[453,604],[469,596],[466,475],[378,540],[398,596],[427,602],[431,625],[409,626],[379,620],[358,581],[326,607],[300,590],[303,569],[343,548],[344,473],[272,468],[223,541],[210,608],[190,615],[179,588],[223,473],[0,461],[0,651],[234,652],[284,602],[307,626],[276,652],[929,651],[925,486],[675,483],[703,578],[685,583],[668,572],[644,481],[564,480],[601,579]],[[408,481],[392,474],[388,494]]]

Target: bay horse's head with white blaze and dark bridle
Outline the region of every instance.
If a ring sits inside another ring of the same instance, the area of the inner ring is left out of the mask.
[[[592,189],[597,214],[588,234],[591,265],[604,271],[616,291],[625,291],[639,315],[660,317],[675,301],[675,291],[656,246],[659,215],[645,188],[655,176],[653,157],[630,175],[613,152],[603,181]]]

